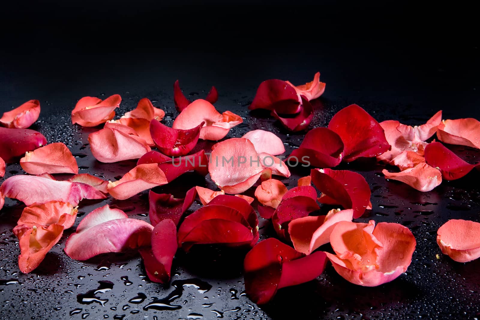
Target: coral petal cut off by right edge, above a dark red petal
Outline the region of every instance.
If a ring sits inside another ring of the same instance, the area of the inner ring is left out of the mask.
[[[444,120],[437,127],[438,140],[480,149],[480,121],[473,118]]]

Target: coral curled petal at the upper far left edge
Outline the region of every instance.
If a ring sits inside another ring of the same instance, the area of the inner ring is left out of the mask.
[[[0,125],[7,128],[25,129],[30,127],[40,115],[40,102],[29,100],[20,107],[5,112],[0,118]]]

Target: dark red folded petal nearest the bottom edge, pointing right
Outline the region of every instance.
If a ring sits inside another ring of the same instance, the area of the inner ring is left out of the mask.
[[[282,264],[304,256],[275,238],[260,241],[243,261],[245,293],[256,304],[269,302],[280,283]]]

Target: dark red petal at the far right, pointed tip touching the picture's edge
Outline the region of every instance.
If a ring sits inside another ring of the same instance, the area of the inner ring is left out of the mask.
[[[462,178],[477,165],[470,165],[460,157],[448,150],[440,142],[432,142],[425,147],[425,161],[432,167],[437,167],[442,172],[445,180]]]

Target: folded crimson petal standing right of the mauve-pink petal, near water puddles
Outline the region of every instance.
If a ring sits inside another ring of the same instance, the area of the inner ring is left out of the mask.
[[[159,222],[152,230],[152,248],[141,248],[145,271],[150,281],[168,283],[172,261],[177,252],[177,225],[170,219]]]

